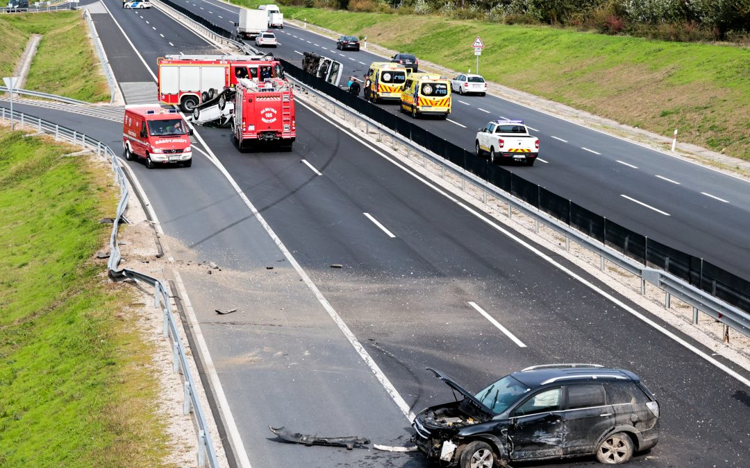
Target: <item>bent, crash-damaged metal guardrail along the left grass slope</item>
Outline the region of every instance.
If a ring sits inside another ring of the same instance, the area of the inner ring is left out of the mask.
[[[163,314],[164,337],[172,338],[172,370],[175,372],[181,371],[184,376],[183,411],[184,414],[188,414],[192,409],[198,425],[198,466],[205,467],[206,461],[208,461],[211,468],[218,468],[219,461],[216,456],[213,441],[211,440],[211,434],[208,431],[208,422],[205,419],[200,405],[197,393],[198,386],[196,386],[195,380],[193,380],[193,375],[190,373],[190,367],[187,362],[184,347],[180,340],[177,323],[175,322],[174,317],[172,317],[174,312],[172,311],[172,305],[169,303],[169,292],[167,291],[167,288],[164,286],[163,282],[160,282],[160,280],[145,275],[144,273],[139,273],[136,270],[130,270],[128,268],[118,270],[122,256],[118,246],[117,234],[120,222],[124,221],[123,216],[127,209],[127,201],[130,198],[130,191],[127,189],[125,174],[122,171],[117,155],[109,146],[104,145],[104,143],[97,139],[93,139],[84,133],[71,130],[67,127],[61,127],[58,124],[53,124],[52,122],[40,118],[25,115],[23,112],[14,111],[13,115],[11,115],[9,110],[0,107],[0,119],[6,121],[10,120],[10,118],[13,118],[14,121],[19,122],[21,125],[34,128],[38,132],[48,133],[49,135],[55,136],[55,139],[66,140],[82,148],[92,149],[96,151],[98,156],[110,160],[112,170],[115,174],[115,180],[117,180],[120,186],[120,201],[117,205],[117,214],[113,222],[112,234],[110,234],[110,259],[107,262],[107,268],[109,269],[110,276],[113,278],[130,278],[136,281],[145,282],[154,287],[154,304]]]

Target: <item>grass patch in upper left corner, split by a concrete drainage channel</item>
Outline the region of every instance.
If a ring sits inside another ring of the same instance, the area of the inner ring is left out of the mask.
[[[43,34],[24,88],[97,103],[110,101],[110,88],[78,11],[0,16],[0,72],[12,76],[31,34]]]

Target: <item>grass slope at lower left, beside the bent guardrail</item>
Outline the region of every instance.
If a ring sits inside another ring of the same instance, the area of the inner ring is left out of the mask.
[[[110,177],[0,127],[0,467],[152,467],[151,350],[108,282]],[[62,157],[61,157],[62,156]]]

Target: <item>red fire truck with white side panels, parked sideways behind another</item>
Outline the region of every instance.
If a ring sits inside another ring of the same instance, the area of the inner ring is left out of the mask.
[[[237,79],[284,78],[281,64],[269,55],[166,55],[157,64],[159,100],[183,112],[214,99]]]

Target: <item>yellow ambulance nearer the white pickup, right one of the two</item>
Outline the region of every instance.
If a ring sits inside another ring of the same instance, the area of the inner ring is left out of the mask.
[[[401,111],[417,115],[440,115],[452,111],[451,81],[434,73],[410,73],[401,93]]]

